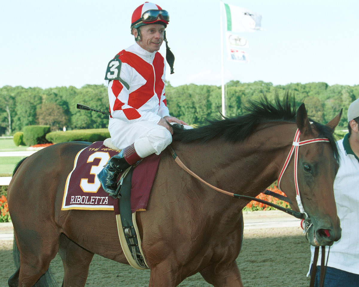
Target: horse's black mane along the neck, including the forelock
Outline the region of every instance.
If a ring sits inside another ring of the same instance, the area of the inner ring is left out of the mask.
[[[296,108],[295,100],[287,93],[281,101],[278,95],[275,97],[275,102],[271,103],[266,96],[263,96],[259,100],[252,100],[245,107],[246,114],[242,116],[224,119],[211,119],[208,120],[208,124],[195,128],[193,130],[182,130],[177,127],[173,127],[174,135],[173,141],[179,142],[207,142],[212,139],[223,138],[226,141],[238,142],[245,140],[248,136],[255,131],[256,127],[260,123],[267,122],[295,122]],[[333,137],[333,131],[331,128],[311,121],[319,131],[319,137],[328,138],[332,145],[334,155],[336,159],[339,159],[337,146]]]

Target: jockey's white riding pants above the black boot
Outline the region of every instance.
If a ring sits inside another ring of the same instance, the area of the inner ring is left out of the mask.
[[[153,122],[127,123],[109,118],[108,131],[114,146],[124,149],[134,144],[137,154],[142,158],[153,153],[159,155],[172,142],[172,135],[167,128]]]

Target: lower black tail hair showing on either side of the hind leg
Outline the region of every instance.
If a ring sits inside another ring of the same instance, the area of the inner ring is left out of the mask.
[[[13,245],[13,257],[15,262],[15,267],[17,271],[9,278],[8,284],[10,287],[17,287],[19,282],[19,272],[20,272],[20,251],[16,244],[16,240],[14,237],[14,245]],[[40,279],[36,282],[33,287],[56,287],[55,278],[53,278],[50,268],[43,274]]]

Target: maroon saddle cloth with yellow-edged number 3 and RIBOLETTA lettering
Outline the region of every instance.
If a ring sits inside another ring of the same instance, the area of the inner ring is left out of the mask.
[[[67,177],[62,210],[115,210],[118,200],[108,196],[103,190],[97,174],[107,161],[119,151],[103,145],[102,141],[80,150],[74,160],[73,170]],[[132,173],[131,211],[147,209],[149,193],[157,173],[160,155],[150,155],[143,159]]]

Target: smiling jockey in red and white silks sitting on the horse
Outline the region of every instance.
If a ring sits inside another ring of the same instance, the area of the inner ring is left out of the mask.
[[[168,12],[156,4],[145,2],[137,7],[131,21],[135,43],[108,63],[108,130],[112,144],[121,151],[109,159],[97,176],[110,196],[115,193],[117,177],[123,170],[153,153],[159,155],[171,144],[173,130],[169,123],[191,128],[171,117],[166,105],[166,64],[158,50],[165,41],[172,74],[174,56],[165,38],[168,22]]]

